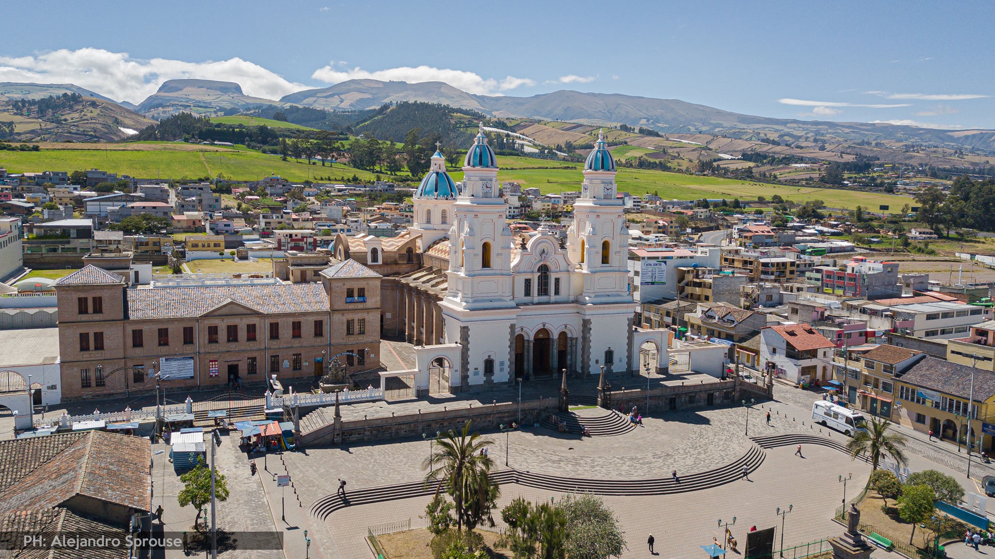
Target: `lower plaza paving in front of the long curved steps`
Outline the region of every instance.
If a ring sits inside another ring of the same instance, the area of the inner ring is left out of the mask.
[[[856,486],[867,482],[870,467],[854,466],[848,457],[828,448],[813,447],[805,454],[805,459],[799,459],[790,448],[768,451],[767,460],[750,475],[753,481],[740,480],[676,495],[603,497],[626,532],[628,550],[622,557],[650,557],[646,538],[653,533],[656,549],[663,556],[699,559],[702,557],[699,545],[711,543],[712,536],[721,538],[717,520],[729,520],[732,516],[736,517],[736,523],[731,529],[740,550],[746,540],[745,532],[752,525],[757,528],[776,525],[779,539],[780,522],[775,508],[787,508],[789,504],[794,508],[785,522],[785,545],[814,542],[842,533],[844,527],[832,520],[843,492],[837,475],[854,469],[851,483]],[[498,507],[519,495],[533,501],[560,497],[558,493],[532,487],[504,485]],[[423,525],[418,515],[424,514],[427,502],[427,498],[412,498],[333,513],[326,527],[341,555],[326,553],[326,557],[367,556],[363,541],[367,526],[409,518],[413,525]]]

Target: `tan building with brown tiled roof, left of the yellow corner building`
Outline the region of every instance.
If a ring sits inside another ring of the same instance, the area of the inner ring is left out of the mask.
[[[864,352],[862,357],[861,372],[847,375],[843,389],[846,399],[852,407],[891,420],[896,378],[927,355],[886,343]]]

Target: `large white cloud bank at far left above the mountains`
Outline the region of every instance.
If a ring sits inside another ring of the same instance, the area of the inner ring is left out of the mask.
[[[193,78],[236,82],[247,95],[280,98],[307,89],[239,58],[184,62],[132,59],[102,49],[61,49],[29,57],[0,57],[0,82],[76,84],[116,100],[139,103],[167,80]]]

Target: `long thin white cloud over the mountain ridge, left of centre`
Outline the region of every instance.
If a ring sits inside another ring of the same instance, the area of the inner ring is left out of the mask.
[[[403,66],[370,72],[359,67],[352,70],[339,71],[333,69],[332,65],[328,65],[315,70],[311,78],[320,80],[326,84],[338,84],[347,80],[380,80],[383,82],[407,82],[409,84],[445,82],[465,92],[482,95],[506,92],[521,86],[535,85],[535,82],[527,78],[508,76],[500,81],[493,79],[485,80],[473,72],[439,69],[431,66],[419,66],[417,68]]]

